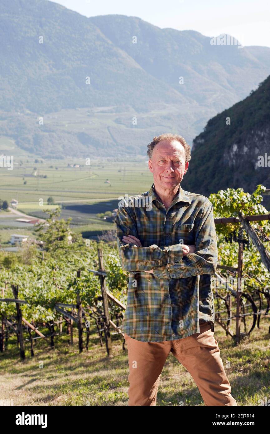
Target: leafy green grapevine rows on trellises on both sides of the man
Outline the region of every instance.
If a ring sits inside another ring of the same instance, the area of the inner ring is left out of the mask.
[[[218,239],[218,267],[212,275],[215,322],[236,345],[270,318],[270,216],[260,203],[265,190],[259,185],[253,194],[239,188],[209,197]],[[59,342],[68,335],[65,342],[73,345],[76,335],[80,354],[98,333],[111,358],[114,335],[126,349],[119,326],[128,273],[120,267],[115,243],[84,240],[59,214],[49,211],[36,229],[42,251],[25,244],[20,253],[0,252],[0,351],[8,355],[10,342],[17,342],[24,360],[26,349],[35,356],[37,339],[54,348],[56,336]],[[252,318],[249,328],[247,317]]]

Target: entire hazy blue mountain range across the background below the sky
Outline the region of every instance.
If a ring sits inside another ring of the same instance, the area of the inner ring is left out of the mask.
[[[2,0],[0,32],[1,139],[45,158],[146,155],[163,132],[192,143],[270,73],[267,47],[46,0]]]

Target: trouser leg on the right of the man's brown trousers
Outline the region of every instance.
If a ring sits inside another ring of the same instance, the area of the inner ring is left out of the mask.
[[[192,375],[205,405],[237,405],[209,322],[200,324],[200,333],[172,342],[172,354]]]

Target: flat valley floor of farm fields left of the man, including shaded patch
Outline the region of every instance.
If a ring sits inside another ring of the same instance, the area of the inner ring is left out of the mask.
[[[111,219],[103,220],[98,213],[113,211],[118,207],[119,198],[125,194],[137,194],[149,190],[153,175],[149,171],[146,158],[135,161],[117,161],[112,158],[85,159],[67,158],[47,160],[12,146],[3,145],[0,140],[0,153],[16,155],[13,170],[0,167],[0,199],[10,204],[16,199],[16,211],[25,216],[46,218],[46,209],[60,207],[61,217],[72,217],[71,227],[83,236],[96,237],[101,231],[114,228]],[[78,167],[71,167],[72,165]],[[47,200],[52,197],[53,204]],[[33,225],[19,222],[23,215],[16,212],[0,211],[0,240],[6,243],[10,234],[33,232]]]

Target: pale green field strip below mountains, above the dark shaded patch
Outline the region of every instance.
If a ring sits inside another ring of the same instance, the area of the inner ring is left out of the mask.
[[[14,169],[10,171],[1,168],[1,199],[10,201],[15,198],[20,204],[35,202],[37,206],[40,199],[46,201],[50,195],[57,202],[117,199],[125,193],[146,191],[153,182],[153,175],[146,165],[146,160],[129,163],[104,161],[103,164],[93,163],[90,167],[77,169],[68,168],[68,162],[71,161],[25,163],[19,167],[14,165]],[[77,160],[75,163],[84,164],[85,161]],[[49,167],[51,165],[53,168]],[[37,167],[37,174],[47,175],[47,178],[32,176],[34,167]],[[107,179],[110,184],[106,183]]]

